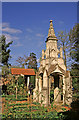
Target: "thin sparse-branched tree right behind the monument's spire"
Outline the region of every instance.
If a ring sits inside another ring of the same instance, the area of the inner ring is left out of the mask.
[[[70,41],[68,38],[68,34],[64,31],[60,31],[58,33],[58,47],[62,47],[63,49],[63,56],[64,56],[64,63],[65,66],[67,68],[67,60],[68,60],[68,55],[69,55],[69,46],[70,45]]]

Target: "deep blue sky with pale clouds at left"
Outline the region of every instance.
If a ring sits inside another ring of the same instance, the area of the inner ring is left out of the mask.
[[[6,42],[10,46],[12,59],[16,64],[19,56],[34,52],[39,59],[48,35],[49,21],[53,20],[55,34],[61,30],[69,32],[77,23],[76,2],[3,2],[2,23]]]

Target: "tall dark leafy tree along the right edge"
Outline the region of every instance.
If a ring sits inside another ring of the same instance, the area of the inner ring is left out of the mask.
[[[73,60],[71,75],[74,94],[76,98],[79,98],[79,24],[76,24],[73,29],[70,30],[69,40],[72,44],[70,55]]]

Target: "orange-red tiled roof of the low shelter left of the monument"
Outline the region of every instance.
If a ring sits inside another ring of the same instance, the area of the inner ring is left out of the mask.
[[[34,69],[24,69],[24,68],[11,68],[12,75],[35,75]]]

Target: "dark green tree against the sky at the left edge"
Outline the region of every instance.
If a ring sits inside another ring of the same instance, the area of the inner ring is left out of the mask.
[[[11,58],[10,56],[10,52],[11,50],[8,49],[9,46],[12,44],[13,41],[9,42],[6,44],[6,37],[4,35],[1,36],[0,38],[0,58],[1,58],[1,63],[3,65],[8,66],[9,63],[9,58]]]

